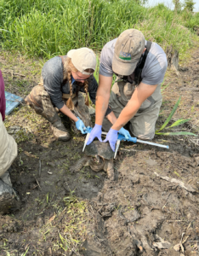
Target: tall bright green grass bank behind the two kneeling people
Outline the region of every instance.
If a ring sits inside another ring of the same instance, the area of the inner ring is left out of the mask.
[[[183,54],[199,26],[199,14],[177,14],[163,4],[146,9],[132,0],[0,0],[0,16],[3,49],[44,58],[83,46],[100,50],[132,27]]]

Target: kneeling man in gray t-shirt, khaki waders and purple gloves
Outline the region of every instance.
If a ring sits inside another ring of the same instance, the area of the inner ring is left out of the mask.
[[[162,104],[161,83],[167,67],[163,49],[145,41],[143,33],[136,29],[128,29],[105,44],[100,56],[95,125],[88,144],[94,137],[101,141],[103,127],[108,131],[105,142],[109,141],[115,151],[118,132],[127,139],[130,137],[123,128],[128,121],[135,137],[151,140],[155,136]],[[111,88],[113,73],[117,80]],[[104,119],[108,104],[109,113]]]

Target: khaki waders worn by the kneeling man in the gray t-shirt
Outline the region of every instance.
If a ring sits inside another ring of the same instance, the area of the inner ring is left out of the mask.
[[[113,85],[109,106],[111,106],[117,118],[133,95],[134,89],[134,84],[129,84],[124,81],[116,82]],[[158,118],[161,105],[161,84],[158,84],[155,92],[142,103],[138,112],[129,120],[129,130],[134,137],[151,140],[155,136],[156,119]],[[109,131],[111,126],[111,122],[108,119],[104,119],[103,129]]]

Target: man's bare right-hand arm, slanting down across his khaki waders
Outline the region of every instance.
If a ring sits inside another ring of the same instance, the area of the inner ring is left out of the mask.
[[[134,90],[134,94],[131,99],[128,101],[128,104],[125,108],[122,109],[117,121],[112,125],[112,129],[119,131],[123,125],[126,125],[130,119],[132,119],[139,110],[141,104],[151,96],[156,90],[155,85],[149,85],[140,83],[138,87]]]

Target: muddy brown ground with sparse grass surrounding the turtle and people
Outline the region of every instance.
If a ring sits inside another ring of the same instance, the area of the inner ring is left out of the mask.
[[[8,131],[19,130],[11,179],[20,201],[0,218],[0,255],[199,255],[199,49],[190,55],[179,72],[168,69],[157,126],[182,96],[172,122],[191,118],[180,131],[197,137],[155,137],[169,149],[122,143],[114,181],[88,166],[69,172],[85,137],[71,131],[70,142],[55,141],[24,104],[7,117]],[[6,90],[19,96],[37,84],[42,66],[0,55]]]

